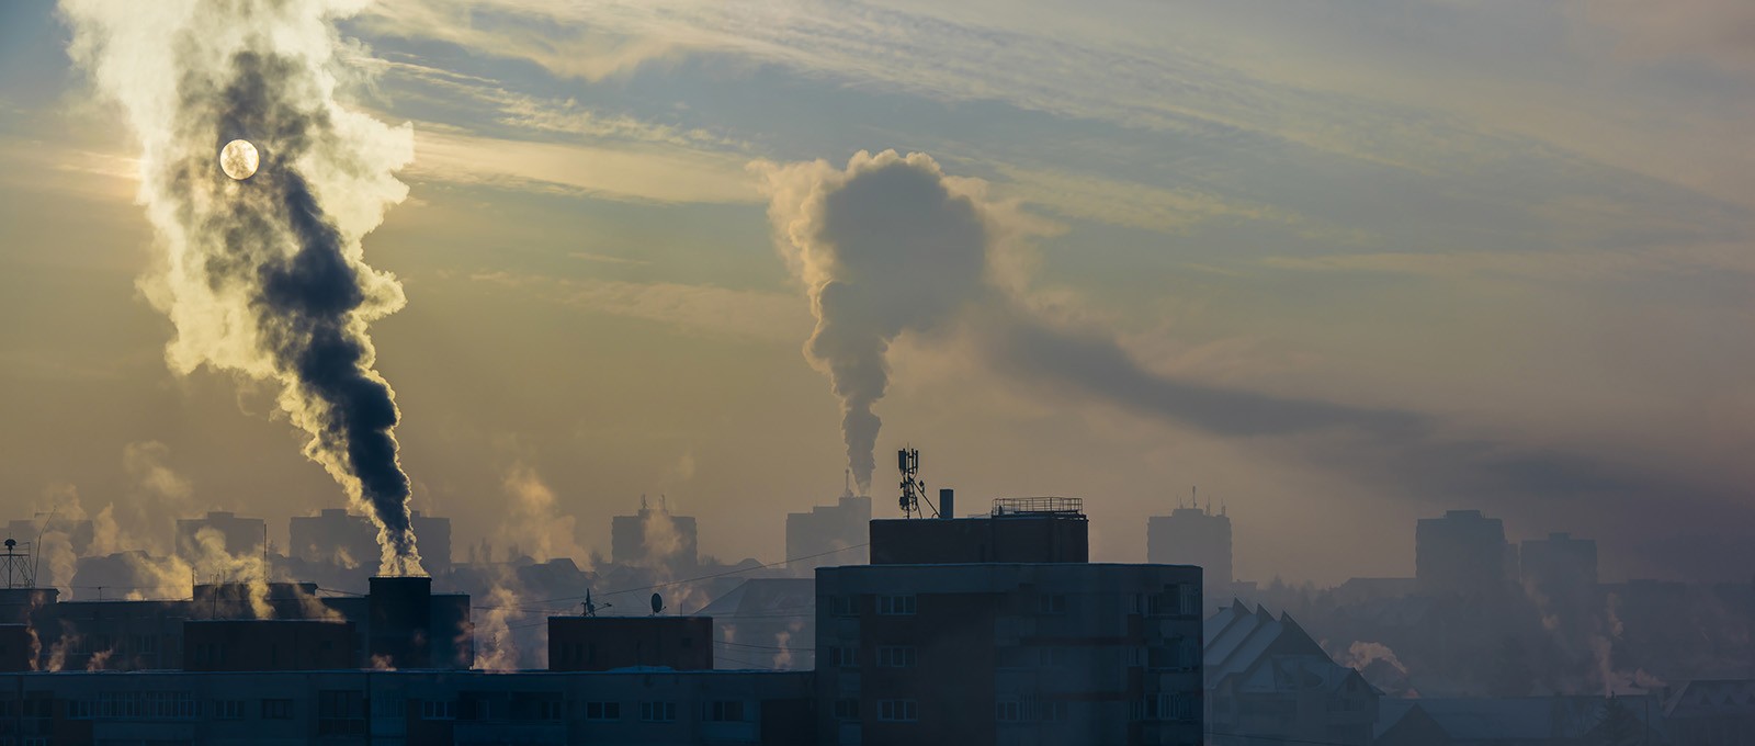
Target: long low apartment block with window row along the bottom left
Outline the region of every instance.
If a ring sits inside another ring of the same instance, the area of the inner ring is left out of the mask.
[[[14,744],[809,746],[811,674],[0,674]]]

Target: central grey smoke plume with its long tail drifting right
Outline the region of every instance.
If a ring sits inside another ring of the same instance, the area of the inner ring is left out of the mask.
[[[930,156],[858,153],[828,161],[756,163],[769,219],[816,316],[806,346],[842,402],[848,463],[865,490],[902,334],[951,337],[1013,381],[1111,404],[1218,437],[1278,437],[1306,458],[1420,493],[1643,495],[1674,476],[1518,448],[1437,418],[1248,391],[1141,363],[1104,328],[1051,314],[1028,288],[1028,242],[1055,230],[986,183],[946,176]],[[1318,437],[1304,437],[1318,435]]]

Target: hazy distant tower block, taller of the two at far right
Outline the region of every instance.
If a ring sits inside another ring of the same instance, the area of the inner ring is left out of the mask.
[[[1415,528],[1415,586],[1423,595],[1494,597],[1518,577],[1506,527],[1481,511],[1446,511]]]

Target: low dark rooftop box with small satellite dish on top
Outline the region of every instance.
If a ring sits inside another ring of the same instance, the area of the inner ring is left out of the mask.
[[[549,616],[549,671],[713,669],[707,616]]]

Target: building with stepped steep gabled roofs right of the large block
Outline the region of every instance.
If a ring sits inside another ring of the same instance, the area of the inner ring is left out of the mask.
[[[1372,744],[1379,693],[1290,614],[1234,600],[1204,632],[1209,744]]]

